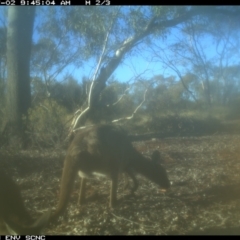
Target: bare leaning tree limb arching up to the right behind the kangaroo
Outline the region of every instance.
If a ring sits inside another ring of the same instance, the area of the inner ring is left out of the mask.
[[[100,65],[102,63],[103,53],[106,48],[107,40],[105,40],[105,43],[103,46],[103,51],[99,58],[98,65],[96,67],[96,71],[93,76],[93,81],[92,81],[92,84],[90,87],[90,92],[89,92],[89,96],[88,96],[88,107],[80,114],[79,117],[77,117],[77,119],[74,123],[74,128],[80,122],[79,120],[83,115],[86,115],[86,113],[89,114],[90,110],[94,111],[94,109],[98,106],[100,93],[105,88],[106,81],[109,79],[111,74],[115,71],[115,69],[119,66],[119,64],[123,60],[125,54],[130,49],[132,49],[135,45],[139,44],[139,42],[144,37],[149,36],[150,34],[153,34],[156,31],[165,30],[166,28],[176,26],[180,23],[191,20],[193,17],[199,16],[199,15],[206,16],[206,17],[217,16],[217,15],[224,15],[224,16],[227,15],[228,17],[232,17],[232,11],[228,11],[228,10],[216,8],[216,7],[208,7],[208,6],[207,7],[189,7],[187,11],[184,11],[183,13],[181,13],[181,15],[179,15],[178,17],[176,17],[174,19],[169,20],[169,19],[163,19],[163,17],[153,17],[141,33],[131,36],[131,37],[127,38],[125,41],[123,41],[123,43],[116,50],[114,56],[110,59],[110,61],[105,66],[102,66],[101,71],[100,71],[99,75],[97,76],[97,72],[99,71]],[[237,15],[236,15],[236,17],[237,17]],[[106,39],[108,38],[109,32],[110,31],[108,30]],[[178,74],[179,74],[179,72],[178,72]],[[180,79],[181,79],[185,89],[195,99],[193,93],[184,84],[184,81],[181,76],[180,76]],[[145,94],[144,94],[144,99],[145,99]],[[139,107],[141,105],[142,105],[142,103],[139,105]],[[136,113],[136,111],[139,109],[139,107],[136,108],[136,110],[134,111],[132,116]],[[124,118],[124,119],[129,119],[131,117]],[[114,122],[116,122],[116,121],[118,121],[118,120],[114,120]]]

